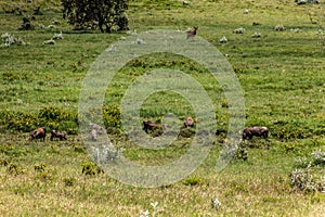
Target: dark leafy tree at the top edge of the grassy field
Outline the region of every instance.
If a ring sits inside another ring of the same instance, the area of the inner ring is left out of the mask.
[[[128,29],[127,0],[61,0],[63,18],[75,29],[96,29],[110,33],[113,26]],[[104,29],[105,28],[105,29]]]

